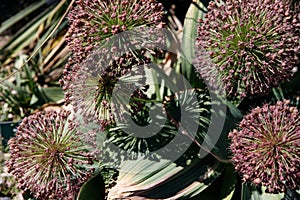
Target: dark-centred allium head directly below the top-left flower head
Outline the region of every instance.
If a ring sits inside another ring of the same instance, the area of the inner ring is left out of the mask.
[[[65,85],[66,97],[75,112],[85,121],[99,124],[101,130],[115,124],[111,101],[113,93],[116,96],[130,95],[126,93],[128,85],[118,87],[118,91],[115,91],[117,84],[124,84],[127,78],[129,82],[143,82],[142,66],[150,62],[144,56],[137,58],[131,53],[112,59],[109,53],[103,52],[106,52],[105,48],[93,52],[85,62],[78,64],[78,70],[72,74],[73,81]],[[106,56],[109,58],[106,59]],[[137,78],[132,74],[134,71]]]

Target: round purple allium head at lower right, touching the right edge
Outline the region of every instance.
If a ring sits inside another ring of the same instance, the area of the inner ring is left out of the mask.
[[[229,138],[232,161],[244,181],[270,193],[299,188],[300,116],[288,100],[253,109]]]

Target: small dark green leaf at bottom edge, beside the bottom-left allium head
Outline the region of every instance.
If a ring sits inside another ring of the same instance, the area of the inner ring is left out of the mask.
[[[104,200],[104,185],[100,174],[92,177],[81,187],[77,200]]]

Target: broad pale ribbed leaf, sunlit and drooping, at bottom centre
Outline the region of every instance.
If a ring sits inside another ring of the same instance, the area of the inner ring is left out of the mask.
[[[121,166],[109,199],[190,199],[205,190],[224,165],[208,155],[185,167],[168,160],[137,159]]]

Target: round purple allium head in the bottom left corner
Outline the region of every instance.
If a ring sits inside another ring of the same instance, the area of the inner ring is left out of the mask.
[[[75,199],[92,175],[94,154],[76,130],[69,111],[39,112],[24,118],[9,140],[9,172],[22,190],[38,199]]]

